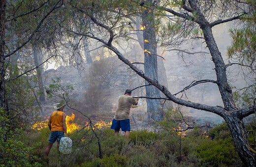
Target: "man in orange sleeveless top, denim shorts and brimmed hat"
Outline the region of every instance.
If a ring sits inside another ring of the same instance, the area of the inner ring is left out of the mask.
[[[49,117],[48,127],[51,131],[51,134],[48,139],[48,145],[45,149],[45,156],[47,157],[53,143],[57,140],[58,142],[58,150],[60,146],[61,138],[66,135],[66,114],[63,112],[63,109],[66,105],[62,105],[58,103],[54,109],[57,111],[53,111],[51,116]]]

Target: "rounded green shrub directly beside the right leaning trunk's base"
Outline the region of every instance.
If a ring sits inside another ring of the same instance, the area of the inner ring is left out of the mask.
[[[229,167],[241,163],[225,123],[211,129],[209,136],[212,139],[202,140],[195,148],[199,165]]]

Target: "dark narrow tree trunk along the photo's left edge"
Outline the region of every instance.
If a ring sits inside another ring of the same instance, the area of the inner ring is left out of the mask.
[[[6,0],[0,0],[0,108],[4,108],[4,37]]]

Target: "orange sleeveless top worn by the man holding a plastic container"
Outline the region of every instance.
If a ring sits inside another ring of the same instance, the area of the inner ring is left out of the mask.
[[[53,111],[51,115],[51,131],[61,131],[64,132],[63,129],[63,111]]]

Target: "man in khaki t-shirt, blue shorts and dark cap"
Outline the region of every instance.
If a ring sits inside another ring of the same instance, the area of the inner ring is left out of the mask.
[[[125,132],[126,139],[129,139],[130,131],[130,107],[137,105],[138,99],[131,97],[131,90],[126,89],[125,94],[118,98],[118,108],[112,121],[111,129],[115,130],[115,135],[118,135],[120,128]]]

